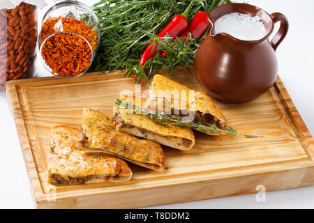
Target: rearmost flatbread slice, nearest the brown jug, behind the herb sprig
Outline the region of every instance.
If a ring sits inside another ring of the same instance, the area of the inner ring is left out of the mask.
[[[167,107],[170,107],[171,114],[193,112],[195,114],[194,121],[200,119],[209,125],[216,123],[217,127],[222,130],[226,128],[225,116],[216,107],[214,101],[205,93],[195,92],[194,95],[192,93],[186,86],[163,75],[155,75],[149,89],[147,109],[156,109],[161,103],[165,107],[165,112],[167,112]],[[220,134],[206,130],[202,132],[210,135]]]

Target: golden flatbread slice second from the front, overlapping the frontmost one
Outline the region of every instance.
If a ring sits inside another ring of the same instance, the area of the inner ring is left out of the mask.
[[[81,143],[149,169],[161,171],[165,167],[160,144],[118,132],[112,118],[87,108],[83,110]]]

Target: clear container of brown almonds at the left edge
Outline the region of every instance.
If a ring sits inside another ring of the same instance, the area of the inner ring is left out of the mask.
[[[6,90],[6,81],[35,75],[36,43],[37,6],[0,3],[0,91]]]

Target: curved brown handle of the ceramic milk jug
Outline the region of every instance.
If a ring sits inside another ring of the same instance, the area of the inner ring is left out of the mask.
[[[274,20],[274,23],[281,22],[281,26],[279,27],[278,32],[274,36],[274,38],[271,40],[271,47],[274,48],[276,51],[278,45],[283,42],[283,39],[285,36],[287,36],[287,31],[289,29],[289,22],[287,20],[287,17],[281,13],[273,13],[271,14],[271,18]]]

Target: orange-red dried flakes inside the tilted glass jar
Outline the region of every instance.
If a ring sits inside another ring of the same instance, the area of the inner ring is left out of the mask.
[[[98,34],[82,20],[73,17],[51,17],[43,24],[40,42],[43,43],[46,38],[59,31],[77,33],[91,46],[92,51],[83,38],[71,33],[56,34],[43,45],[43,59],[53,73],[61,77],[76,77],[89,67],[92,54],[98,45]]]

